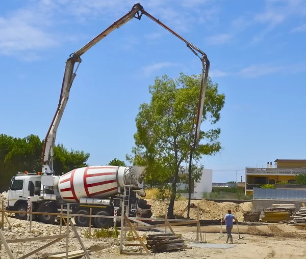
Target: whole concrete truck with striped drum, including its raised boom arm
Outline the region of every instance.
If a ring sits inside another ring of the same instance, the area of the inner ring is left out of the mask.
[[[61,207],[64,210],[67,209],[69,203],[72,214],[75,215],[88,215],[91,208],[93,215],[120,216],[120,208],[124,206],[123,197],[127,195],[124,193],[126,186],[129,186],[131,190],[129,192],[129,215],[145,218],[152,216],[151,206],[147,204],[146,200],[139,198],[139,196],[145,197],[143,188],[145,166],[87,166],[73,169],[62,176],[57,176],[53,167],[56,132],[69,98],[72,82],[81,64],[81,56],[116,28],[121,27],[133,18],[140,20],[143,14],[184,41],[187,47],[200,58],[202,78],[197,121],[201,121],[201,110],[209,71],[207,55],[147,13],[140,4],[135,4],[129,13],[114,22],[81,49],[70,54],[67,59],[59,104],[44,139],[42,171],[33,174],[27,171],[18,172],[11,179],[11,185],[7,193],[6,209],[16,211],[15,216],[17,218],[27,219],[27,214],[18,213],[18,211],[26,212],[29,201],[32,203],[34,212],[58,213]],[[74,70],[76,63],[78,65]],[[40,222],[52,224],[58,218],[50,214],[38,215],[37,219]],[[89,226],[89,217],[74,216],[74,221],[78,226]],[[107,228],[113,225],[113,221],[116,220],[94,217],[92,225],[97,228]]]

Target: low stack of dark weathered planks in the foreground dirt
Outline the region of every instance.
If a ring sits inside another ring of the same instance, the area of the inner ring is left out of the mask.
[[[180,236],[174,234],[156,234],[148,235],[147,248],[155,253],[179,250],[187,247]]]

